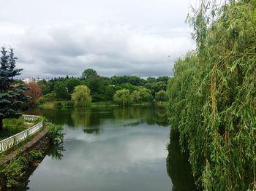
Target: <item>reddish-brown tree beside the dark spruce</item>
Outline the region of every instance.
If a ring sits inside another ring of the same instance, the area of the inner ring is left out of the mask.
[[[29,102],[31,104],[36,104],[39,97],[42,95],[42,89],[37,83],[31,82],[27,85],[28,90],[24,91],[25,95],[29,95]]]

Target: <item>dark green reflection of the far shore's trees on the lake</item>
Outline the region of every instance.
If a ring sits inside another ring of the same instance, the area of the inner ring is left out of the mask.
[[[136,126],[143,122],[148,125],[167,126],[167,114],[164,107],[159,106],[114,106],[94,108],[56,108],[37,109],[30,114],[44,115],[50,122],[68,125],[69,128],[83,128],[84,133],[99,135],[100,126],[110,120],[115,126],[120,121],[124,126]]]

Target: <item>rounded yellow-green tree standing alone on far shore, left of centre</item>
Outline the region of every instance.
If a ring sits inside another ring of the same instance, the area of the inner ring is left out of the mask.
[[[72,93],[72,101],[76,106],[89,106],[91,104],[91,90],[86,85],[78,85]]]

